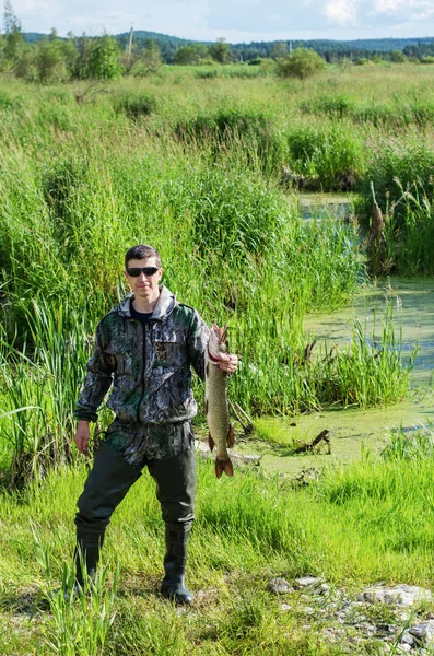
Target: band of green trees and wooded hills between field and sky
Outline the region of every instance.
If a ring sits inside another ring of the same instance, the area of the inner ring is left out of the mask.
[[[368,49],[368,45],[376,49]],[[407,45],[404,45],[407,44]],[[384,49],[388,46],[390,49]],[[395,47],[394,47],[395,46]],[[399,47],[398,47],[399,46]],[[28,82],[63,80],[113,80],[122,74],[146,75],[162,63],[178,66],[245,62],[260,63],[262,59],[278,62],[300,49],[310,50],[329,63],[342,60],[367,63],[408,59],[431,63],[434,39],[375,39],[359,42],[259,42],[227,44],[188,42],[156,33],[131,32],[97,37],[86,35],[59,37],[56,30],[48,36],[24,34],[11,0],[4,2],[3,34],[0,34],[0,72]],[[290,66],[291,68],[291,66]]]

